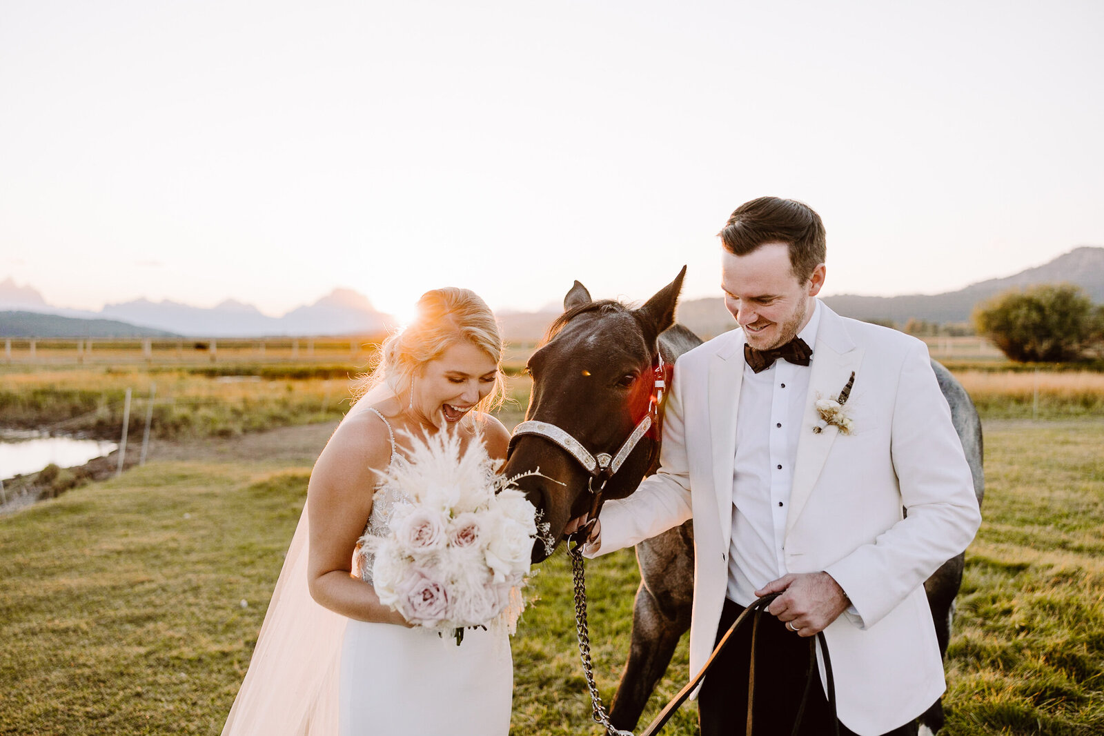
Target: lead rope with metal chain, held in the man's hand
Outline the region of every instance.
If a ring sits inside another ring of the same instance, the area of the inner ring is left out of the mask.
[[[586,675],[586,685],[591,692],[591,703],[593,705],[593,718],[595,723],[599,724],[606,729],[607,736],[634,736],[633,732],[619,730],[614,727],[609,722],[609,716],[602,704],[602,697],[598,694],[597,685],[594,682],[594,671],[591,663],[591,647],[590,647],[590,634],[587,632],[586,623],[586,580],[585,580],[585,569],[583,566],[583,552],[581,547],[586,538],[586,534],[590,532],[588,526],[584,526],[582,530],[571,535],[567,543],[567,555],[571,557],[572,573],[575,583],[575,629],[578,634],[578,651],[580,658],[583,662],[583,673]],[[640,732],[639,736],[655,736],[658,734],[662,727],[670,721],[675,712],[690,697],[690,694],[698,687],[702,679],[705,676],[705,672],[713,665],[718,660],[721,652],[724,651],[725,647],[729,646],[729,641],[732,639],[733,634],[744,626],[749,620],[752,622],[752,647],[751,647],[751,663],[747,671],[747,736],[752,736],[754,733],[753,727],[753,707],[755,696],[755,640],[757,637],[758,620],[763,615],[763,611],[771,601],[778,597],[779,594],[773,593],[768,596],[763,596],[753,602],[751,606],[745,608],[743,612],[736,617],[736,620],[732,622],[729,630],[724,632],[721,640],[716,643],[713,652],[709,655],[705,665],[701,669],[698,674],[693,676],[690,682],[687,683],[686,687],[679,691],[671,701],[664,706],[664,710],[659,712],[659,715],[648,725],[646,729]],[[836,736],[839,736],[839,718],[836,715],[836,680],[832,678],[831,671],[831,657],[828,654],[828,642],[825,640],[824,632],[818,632],[816,639],[809,639],[809,666],[805,676],[805,691],[802,694],[802,703],[797,708],[797,718],[794,722],[793,736],[797,736],[798,729],[802,726],[802,719],[805,716],[805,705],[808,703],[809,695],[813,693],[813,686],[816,679],[818,679],[817,673],[817,647],[816,642],[820,642],[820,651],[824,653],[825,660],[825,674],[827,675],[828,685],[828,708],[831,717],[832,729]]]

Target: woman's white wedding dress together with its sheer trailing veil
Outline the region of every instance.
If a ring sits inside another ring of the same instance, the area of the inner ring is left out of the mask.
[[[403,461],[393,434],[391,461]],[[375,489],[365,533],[386,534],[403,499],[386,484]],[[304,509],[222,736],[506,736],[506,631],[466,629],[457,646],[428,629],[335,614],[307,588],[309,535]],[[358,548],[352,562],[371,584],[371,557]]]

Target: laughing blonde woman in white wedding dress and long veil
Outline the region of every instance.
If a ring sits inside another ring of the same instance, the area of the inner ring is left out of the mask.
[[[502,341],[467,289],[423,295],[389,338],[361,396],[310,474],[299,521],[223,736],[295,734],[505,736],[513,672],[505,630],[452,638],[380,604],[358,540],[384,534],[401,495],[380,479],[414,436],[452,430],[506,457]],[[309,593],[308,593],[309,591]]]

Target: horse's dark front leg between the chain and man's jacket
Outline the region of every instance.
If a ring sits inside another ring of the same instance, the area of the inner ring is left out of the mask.
[[[641,580],[633,607],[633,643],[628,661],[609,707],[609,721],[615,727],[624,730],[636,727],[651,691],[670,664],[679,639],[689,628],[689,616],[673,619],[665,616]]]

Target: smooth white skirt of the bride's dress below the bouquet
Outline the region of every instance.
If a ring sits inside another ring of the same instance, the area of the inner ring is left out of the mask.
[[[456,646],[427,629],[350,620],[341,647],[341,736],[507,736],[513,663],[505,631]]]

